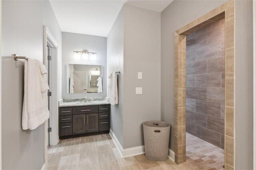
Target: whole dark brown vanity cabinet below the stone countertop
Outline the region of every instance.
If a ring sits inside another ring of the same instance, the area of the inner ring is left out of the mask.
[[[59,136],[70,138],[109,132],[110,105],[59,108]]]

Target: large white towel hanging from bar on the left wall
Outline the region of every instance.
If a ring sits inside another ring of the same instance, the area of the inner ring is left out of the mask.
[[[42,83],[42,84],[41,84]],[[25,60],[22,129],[33,130],[49,119],[47,71],[38,60]]]

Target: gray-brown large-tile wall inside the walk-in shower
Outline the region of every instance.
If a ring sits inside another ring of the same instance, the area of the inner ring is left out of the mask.
[[[186,36],[186,132],[224,148],[225,20]]]

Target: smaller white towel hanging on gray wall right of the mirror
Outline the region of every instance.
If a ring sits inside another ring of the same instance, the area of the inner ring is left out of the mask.
[[[117,75],[116,72],[110,73],[108,76],[110,79],[108,84],[108,97],[107,100],[110,102],[111,105],[118,104],[118,89],[117,89]]]

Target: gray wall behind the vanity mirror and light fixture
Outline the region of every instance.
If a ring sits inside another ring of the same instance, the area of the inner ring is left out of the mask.
[[[87,50],[97,53],[95,61],[74,59],[73,51]],[[66,65],[67,64],[88,64],[102,65],[102,93],[73,93],[67,94],[66,86]],[[85,34],[75,34],[62,32],[62,98],[79,98],[79,97],[105,97],[107,95],[107,38],[99,36],[90,36]]]

